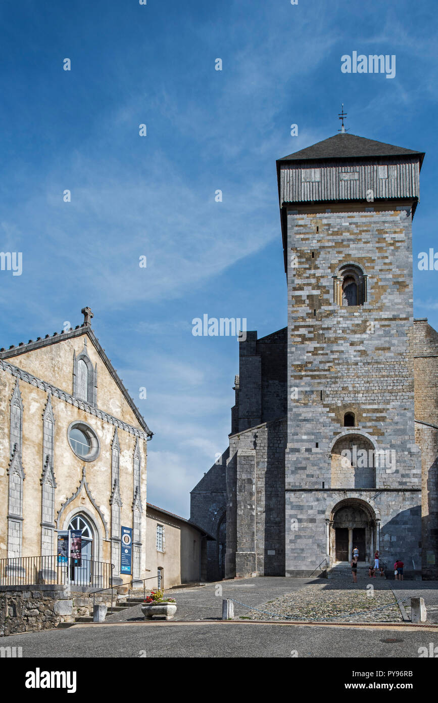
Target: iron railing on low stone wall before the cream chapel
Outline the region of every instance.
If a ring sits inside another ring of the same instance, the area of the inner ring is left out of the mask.
[[[48,555],[0,559],[0,586],[64,584],[91,587],[112,586],[113,565],[81,558]]]

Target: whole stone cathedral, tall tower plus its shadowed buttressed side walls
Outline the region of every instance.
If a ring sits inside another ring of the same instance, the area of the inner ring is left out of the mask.
[[[239,343],[229,447],[191,493],[208,578],[359,548],[438,577],[438,333],[413,318],[424,154],[345,132],[277,161],[288,326]]]

